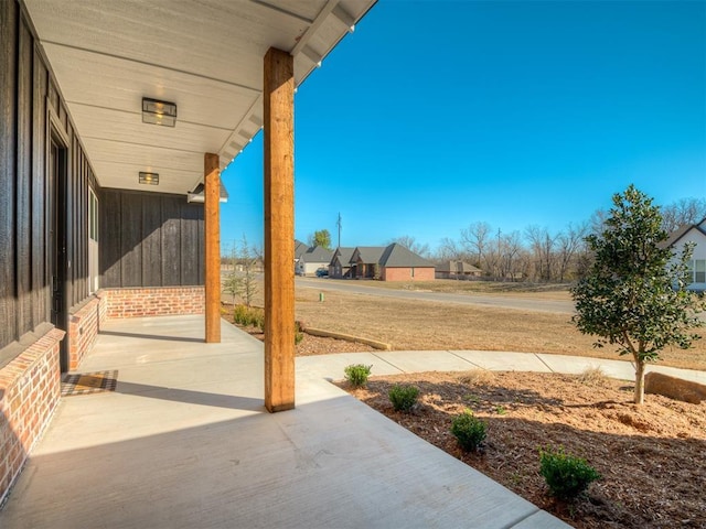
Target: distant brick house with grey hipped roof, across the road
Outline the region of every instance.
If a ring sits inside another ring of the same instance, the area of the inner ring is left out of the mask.
[[[434,264],[397,242],[386,247],[359,246],[351,257],[354,278],[382,281],[432,281]]]

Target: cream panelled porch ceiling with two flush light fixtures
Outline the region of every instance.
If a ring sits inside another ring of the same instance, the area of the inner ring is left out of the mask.
[[[100,185],[186,194],[204,152],[224,169],[259,131],[267,50],[299,85],[376,0],[23,1]],[[142,123],[142,97],[176,126]]]

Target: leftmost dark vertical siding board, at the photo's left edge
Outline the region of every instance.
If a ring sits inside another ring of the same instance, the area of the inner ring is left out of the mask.
[[[15,53],[18,9],[0,2],[0,348],[17,337],[14,303]]]

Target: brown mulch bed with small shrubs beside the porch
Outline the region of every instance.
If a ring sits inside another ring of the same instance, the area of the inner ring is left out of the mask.
[[[394,384],[420,390],[411,413],[395,412]],[[342,384],[345,387],[345,384]],[[649,395],[631,402],[632,385],[585,377],[469,371],[372,377],[351,392],[420,438],[579,529],[706,528],[706,403]],[[449,432],[464,409],[488,423],[478,453]],[[575,501],[547,495],[538,449],[564,446],[602,475]]]

